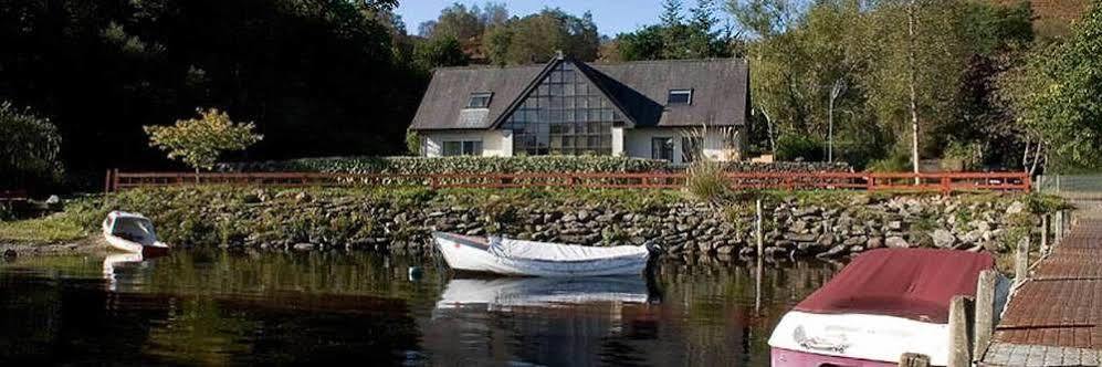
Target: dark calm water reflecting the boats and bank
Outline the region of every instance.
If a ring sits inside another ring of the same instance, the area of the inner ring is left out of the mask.
[[[826,262],[662,263],[650,280],[452,279],[370,254],[0,261],[0,365],[768,363]],[[431,262],[431,261],[430,261]]]

